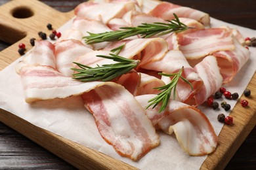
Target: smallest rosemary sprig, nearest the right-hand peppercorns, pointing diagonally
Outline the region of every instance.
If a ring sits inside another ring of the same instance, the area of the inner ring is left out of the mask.
[[[161,107],[160,107],[160,110],[158,110],[158,112],[165,110],[165,108],[167,107],[168,101],[171,97],[172,91],[173,91],[173,99],[175,99],[175,97],[176,97],[176,87],[177,87],[179,78],[181,78],[184,82],[188,83],[190,85],[190,87],[193,89],[192,84],[190,84],[190,82],[188,80],[186,80],[186,78],[184,78],[181,75],[182,70],[183,70],[183,67],[179,70],[178,73],[173,73],[173,74],[159,73],[162,76],[174,76],[174,77],[169,84],[166,84],[165,86],[161,86],[158,88],[154,88],[154,89],[163,90],[163,91],[158,93],[158,95],[156,95],[156,97],[154,97],[148,101],[149,105],[146,107],[146,109],[148,109],[152,105],[154,105],[152,107],[154,109],[157,105],[159,105],[161,103]]]

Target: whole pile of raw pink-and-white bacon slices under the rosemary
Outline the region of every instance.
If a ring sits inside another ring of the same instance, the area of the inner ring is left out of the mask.
[[[115,31],[119,27],[142,23],[166,22],[173,13],[182,23],[194,27],[181,33],[142,39],[127,38],[117,42],[86,44],[87,33]],[[239,31],[229,27],[209,28],[204,12],[160,1],[109,0],[81,3],[75,9],[72,27],[57,42],[36,41],[18,63],[26,101],[81,95],[85,108],[95,118],[98,131],[121,156],[139,160],[160,144],[156,130],[175,133],[181,147],[192,156],[213,152],[217,135],[207,117],[196,108],[230,82],[249,58]],[[111,82],[80,82],[72,78],[74,61],[91,67],[113,62],[97,58],[125,44],[119,56],[140,59],[137,69]],[[145,109],[156,96],[153,89],[169,83],[169,77],[157,73],[182,75],[193,86],[178,83],[176,100],[167,108]]]

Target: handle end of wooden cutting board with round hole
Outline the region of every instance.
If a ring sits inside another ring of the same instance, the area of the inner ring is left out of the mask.
[[[13,44],[1,52],[0,71],[20,57],[18,43],[26,44],[28,52],[32,48],[30,39],[40,39],[39,31],[47,35],[52,32],[47,29],[47,24],[58,29],[74,17],[74,11],[59,12],[36,0],[12,0],[0,6],[0,11],[0,41]]]

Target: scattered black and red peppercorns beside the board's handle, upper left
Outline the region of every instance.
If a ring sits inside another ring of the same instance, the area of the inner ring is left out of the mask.
[[[53,30],[53,25],[52,24],[47,24],[47,28],[49,30]],[[47,34],[44,33],[43,31],[39,31],[38,35],[43,40],[47,39]],[[61,37],[61,33],[57,32],[56,30],[53,30],[52,33],[49,35],[49,37],[50,37],[51,40],[54,40],[55,37],[60,38]],[[30,39],[30,44],[32,46],[35,46],[35,38]],[[26,50],[26,45],[24,43],[20,43],[18,45],[18,53],[20,54],[20,56],[25,54],[25,50]]]

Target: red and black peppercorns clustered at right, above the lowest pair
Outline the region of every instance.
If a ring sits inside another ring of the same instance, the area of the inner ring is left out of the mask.
[[[226,88],[220,88],[220,90],[214,94],[214,98],[221,99],[223,95],[226,99],[233,99],[233,100],[236,100],[239,97],[238,93],[230,93],[226,91]],[[213,96],[208,97],[207,104],[211,106],[214,110],[219,108],[219,103],[217,101],[214,101]],[[223,109],[226,111],[230,110],[231,108],[230,105],[226,103],[226,101],[221,102],[221,107],[223,107]]]

